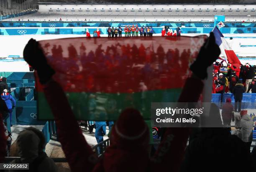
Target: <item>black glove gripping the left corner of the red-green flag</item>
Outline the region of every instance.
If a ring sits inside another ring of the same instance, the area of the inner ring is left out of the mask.
[[[48,65],[43,51],[36,40],[30,39],[23,51],[25,61],[38,73],[40,83],[44,84],[50,80],[55,71]]]

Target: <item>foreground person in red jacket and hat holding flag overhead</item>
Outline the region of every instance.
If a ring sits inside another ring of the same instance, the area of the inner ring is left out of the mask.
[[[215,37],[210,33],[207,43],[190,66],[193,74],[187,78],[179,102],[198,101],[204,86],[202,80],[207,77],[207,67],[212,65],[219,54]],[[35,40],[29,40],[23,56],[36,69],[39,81],[44,86],[44,94],[58,126],[59,141],[72,172],[84,172],[84,169],[88,172],[179,171],[189,136],[188,128],[166,128],[159,148],[150,159],[147,151],[148,127],[137,110],[126,109],[113,125],[110,147],[101,159],[97,159],[77,124],[64,91],[52,78],[54,70],[47,64]],[[138,124],[136,129],[131,129],[133,121]]]

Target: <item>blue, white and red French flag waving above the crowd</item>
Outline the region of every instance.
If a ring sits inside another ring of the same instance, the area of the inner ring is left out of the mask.
[[[241,62],[217,26],[215,26],[212,32],[214,33],[216,44],[220,47],[220,52],[224,56],[224,60],[228,60],[232,65],[236,64],[235,66],[241,66]]]

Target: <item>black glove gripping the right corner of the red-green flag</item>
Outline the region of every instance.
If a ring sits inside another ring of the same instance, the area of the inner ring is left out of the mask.
[[[217,60],[220,55],[220,48],[215,43],[214,34],[211,32],[198,53],[196,61],[190,66],[190,70],[199,78],[207,78],[207,68]]]

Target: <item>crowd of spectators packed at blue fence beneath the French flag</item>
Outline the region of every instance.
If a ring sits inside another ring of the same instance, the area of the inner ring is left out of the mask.
[[[223,62],[215,62],[214,64],[212,93],[221,94],[221,102],[224,93],[233,93],[235,111],[240,112],[243,93],[256,93],[256,66],[251,66],[249,63],[245,65],[227,63],[224,66]]]

